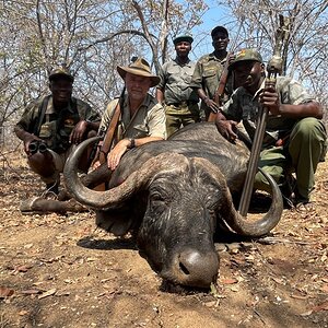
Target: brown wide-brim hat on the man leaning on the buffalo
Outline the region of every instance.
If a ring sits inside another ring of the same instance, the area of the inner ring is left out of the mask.
[[[127,73],[131,73],[138,77],[148,78],[151,80],[151,86],[155,86],[160,83],[161,79],[157,75],[153,75],[151,72],[150,65],[141,57],[137,58],[128,67],[118,66],[117,71],[119,75],[125,80]]]

